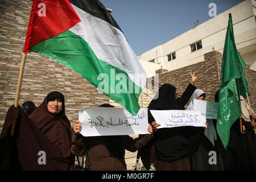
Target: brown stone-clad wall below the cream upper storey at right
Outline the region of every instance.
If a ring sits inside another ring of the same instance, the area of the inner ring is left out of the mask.
[[[191,80],[191,75],[189,72],[196,72],[197,81],[195,86],[197,89],[204,90],[207,101],[214,101],[214,95],[219,88],[220,73],[222,64],[222,54],[217,51],[212,51],[204,55],[204,61],[189,65],[188,67],[176,69],[171,72],[167,72],[165,69],[159,69],[156,73],[159,74],[159,87],[165,83],[172,84],[176,87],[177,97],[181,96],[184,90],[187,88]],[[252,71],[248,64],[244,69],[248,87],[251,96],[250,104],[253,110],[256,109],[256,94],[255,85],[256,73]],[[154,78],[152,78],[154,80]],[[189,104],[189,102],[188,102]],[[185,108],[188,106],[185,106]]]

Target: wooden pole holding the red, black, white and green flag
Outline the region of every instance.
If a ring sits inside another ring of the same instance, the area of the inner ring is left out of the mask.
[[[26,57],[27,57],[27,53],[23,52],[22,53],[22,63],[20,64],[20,69],[19,69],[19,78],[18,78],[18,85],[17,85],[17,90],[16,90],[14,107],[18,107],[18,103],[19,103],[19,93],[20,93],[20,88],[21,88],[21,84],[22,84],[22,77],[23,77]],[[16,122],[16,118],[14,119],[13,125],[11,125],[11,136],[14,135],[15,122]]]

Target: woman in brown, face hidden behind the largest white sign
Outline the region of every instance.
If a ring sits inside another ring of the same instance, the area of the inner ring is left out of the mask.
[[[99,107],[114,107],[102,104]],[[154,126],[148,126],[148,133],[141,138],[133,139],[129,135],[110,135],[84,137],[81,131],[81,122],[76,121],[73,126],[72,154],[81,156],[88,154],[89,168],[93,171],[126,171],[125,150],[135,152],[152,138]],[[88,168],[88,164],[86,164]]]

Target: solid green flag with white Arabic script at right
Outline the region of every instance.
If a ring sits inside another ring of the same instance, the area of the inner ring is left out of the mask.
[[[217,132],[225,148],[229,142],[230,127],[242,114],[240,95],[246,97],[246,92],[250,95],[243,67],[245,62],[237,51],[232,15],[229,14],[222,56],[217,115]]]

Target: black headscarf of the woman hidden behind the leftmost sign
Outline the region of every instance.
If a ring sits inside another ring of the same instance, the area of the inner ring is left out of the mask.
[[[99,107],[114,107],[110,104],[102,104]],[[123,158],[124,148],[123,139],[121,136],[104,136],[104,141],[107,145],[109,155],[112,158]]]

